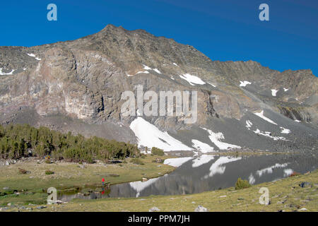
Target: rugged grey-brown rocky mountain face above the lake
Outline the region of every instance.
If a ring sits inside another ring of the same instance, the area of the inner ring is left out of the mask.
[[[107,25],[78,40],[30,48],[0,47],[0,70],[4,124],[28,122],[137,142],[136,131],[129,129],[136,117],[122,116],[121,96],[126,90],[136,95],[136,85],[143,85],[143,92],[198,92],[195,124],[184,124],[184,116],[143,117],[176,136],[200,127],[225,133],[216,124],[232,119],[242,121],[248,133],[245,117],[261,110],[278,112],[280,119],[296,127],[295,120],[307,122],[298,124],[317,136],[318,78],[312,71],[279,72],[255,61],[211,61],[192,46],[144,30]],[[107,131],[95,129],[105,125]],[[213,141],[210,145],[217,148]]]

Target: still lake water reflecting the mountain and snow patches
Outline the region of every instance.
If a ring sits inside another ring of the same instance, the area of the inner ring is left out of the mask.
[[[166,160],[165,162],[169,162]],[[146,182],[130,182],[110,186],[105,192],[93,191],[59,194],[61,201],[73,198],[143,197],[151,195],[196,194],[235,186],[238,177],[251,184],[272,182],[293,172],[305,173],[317,169],[316,155],[252,155],[242,157],[201,155],[171,160],[178,166],[174,172]]]

